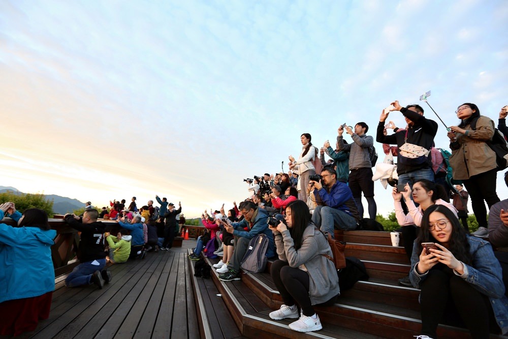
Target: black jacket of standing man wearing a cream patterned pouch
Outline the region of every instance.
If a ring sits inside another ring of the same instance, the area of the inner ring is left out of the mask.
[[[408,143],[425,147],[426,149],[430,150],[430,148],[434,146],[434,137],[437,133],[437,122],[427,119],[425,116],[411,111],[405,107],[401,108],[400,112],[415,124],[409,127],[407,130],[400,130],[392,135],[385,136],[383,135],[383,131],[385,130],[385,122],[379,121],[379,125],[377,125],[376,141],[384,144],[397,145],[400,147],[406,143],[404,139],[407,132]],[[400,157],[401,156],[399,152],[399,155],[397,156],[398,174],[409,173],[424,168],[432,169],[432,158],[430,152],[427,156],[427,161],[416,166],[402,164]]]

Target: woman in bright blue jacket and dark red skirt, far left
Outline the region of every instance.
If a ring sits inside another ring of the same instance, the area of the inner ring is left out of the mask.
[[[9,212],[18,227],[0,224],[0,335],[19,335],[47,319],[55,289],[51,245],[56,231],[42,209],[23,215],[14,203],[0,204],[0,220]]]

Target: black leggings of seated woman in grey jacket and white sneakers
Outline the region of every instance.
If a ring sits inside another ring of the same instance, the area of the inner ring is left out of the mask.
[[[272,264],[270,274],[285,305],[293,306],[296,302],[300,305],[304,316],[310,317],[315,314],[309,297],[309,273],[290,267],[287,261],[276,260]],[[336,300],[337,296],[334,296],[320,305],[329,306]]]

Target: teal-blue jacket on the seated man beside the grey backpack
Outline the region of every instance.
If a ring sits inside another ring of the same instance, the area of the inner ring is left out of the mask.
[[[237,237],[245,237],[252,239],[258,234],[265,234],[268,238],[268,249],[266,250],[266,256],[271,258],[275,256],[275,242],[273,241],[273,232],[268,228],[266,220],[268,219],[268,212],[263,208],[257,208],[252,215],[252,220],[248,223],[245,219],[238,223],[231,223],[234,231],[233,235]],[[245,231],[247,227],[249,230]]]

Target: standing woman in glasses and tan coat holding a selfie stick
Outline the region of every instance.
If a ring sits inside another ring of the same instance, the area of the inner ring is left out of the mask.
[[[487,209],[499,198],[496,193],[496,153],[487,145],[494,136],[494,121],[480,115],[477,105],[465,103],[457,108],[459,126],[451,126],[448,137],[452,156],[453,178],[462,180],[471,198],[480,232],[487,235]]]

